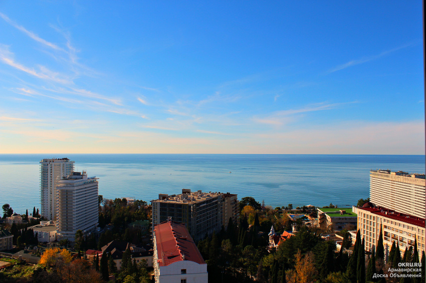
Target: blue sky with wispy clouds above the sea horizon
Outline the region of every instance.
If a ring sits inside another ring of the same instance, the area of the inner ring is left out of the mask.
[[[424,154],[421,1],[1,1],[0,101],[0,153]]]

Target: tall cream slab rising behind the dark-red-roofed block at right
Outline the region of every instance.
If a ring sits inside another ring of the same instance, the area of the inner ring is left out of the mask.
[[[390,170],[370,171],[370,201],[407,215],[425,217],[424,174]]]

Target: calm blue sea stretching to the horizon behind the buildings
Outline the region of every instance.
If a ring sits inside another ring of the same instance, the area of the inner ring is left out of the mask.
[[[369,170],[424,172],[424,155],[317,154],[0,154],[0,205],[40,207],[42,158],[68,157],[99,177],[104,198],[149,202],[182,188],[253,196],[267,205],[356,204],[369,196]],[[231,173],[230,173],[231,171]]]

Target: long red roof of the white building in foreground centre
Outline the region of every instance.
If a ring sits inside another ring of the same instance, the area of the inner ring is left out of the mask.
[[[154,231],[160,266],[167,266],[181,260],[205,264],[184,224],[174,221],[163,222],[155,225]]]

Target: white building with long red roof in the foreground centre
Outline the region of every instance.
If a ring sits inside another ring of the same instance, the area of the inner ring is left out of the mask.
[[[207,283],[207,264],[184,224],[163,222],[153,235],[155,282]]]

